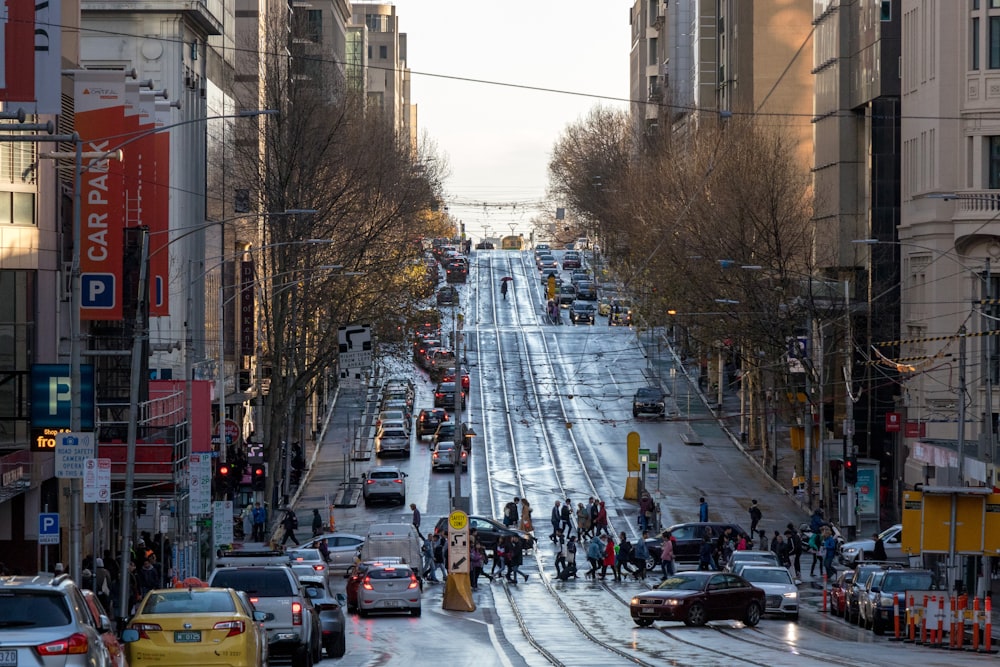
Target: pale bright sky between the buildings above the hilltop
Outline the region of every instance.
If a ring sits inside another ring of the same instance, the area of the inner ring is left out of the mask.
[[[393,4],[419,136],[447,160],[449,212],[474,239],[527,235],[563,130],[598,104],[627,105],[632,0]]]

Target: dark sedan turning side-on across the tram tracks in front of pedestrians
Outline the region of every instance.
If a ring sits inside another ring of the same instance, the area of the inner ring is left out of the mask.
[[[653,621],[697,626],[729,619],[753,627],[764,613],[764,591],[730,572],[680,572],[632,598],[629,612],[640,627]]]

